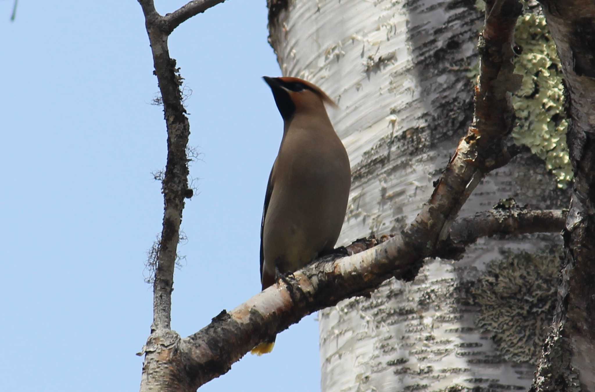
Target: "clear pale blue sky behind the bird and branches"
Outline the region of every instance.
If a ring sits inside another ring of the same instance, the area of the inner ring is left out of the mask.
[[[159,1],[162,14],[182,1]],[[174,330],[187,336],[260,289],[259,225],[282,132],[262,75],[280,71],[265,0],[228,0],[170,37],[193,91],[186,255]],[[139,4],[0,2],[3,75],[0,380],[5,391],[130,391],[152,320],[146,251],[161,231],[162,108]],[[320,389],[314,316],[201,391]],[[299,374],[300,377],[295,377]]]

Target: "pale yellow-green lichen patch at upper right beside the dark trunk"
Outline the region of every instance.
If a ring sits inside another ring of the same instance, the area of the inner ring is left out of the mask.
[[[523,80],[512,96],[518,121],[512,137],[543,159],[558,187],[566,188],[572,166],[566,146],[562,66],[546,18],[535,14],[519,17],[515,40],[522,48],[521,55],[515,57],[515,73],[523,75]]]

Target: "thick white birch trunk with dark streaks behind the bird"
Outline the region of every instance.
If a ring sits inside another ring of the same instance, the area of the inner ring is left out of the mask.
[[[483,12],[472,1],[268,0],[268,6],[283,74],[312,81],[340,108],[330,116],[353,179],[339,245],[398,232],[430,197],[472,120]],[[535,15],[525,21],[537,36],[546,34]],[[540,56],[529,56],[525,68],[519,63],[518,72],[526,73],[520,96],[555,95],[556,88],[562,94],[561,85],[538,85],[540,72],[549,70],[544,77],[551,83],[559,69],[548,53]],[[544,64],[531,69],[537,62]],[[514,140],[528,147],[478,186],[462,215],[511,197],[535,208],[568,206],[564,120],[557,112],[536,118],[530,106],[515,101],[519,122],[545,130],[515,131]],[[456,263],[427,260],[412,283],[391,279],[369,299],[321,311],[322,391],[527,390],[556,305],[560,244],[559,236],[547,235],[487,239]]]

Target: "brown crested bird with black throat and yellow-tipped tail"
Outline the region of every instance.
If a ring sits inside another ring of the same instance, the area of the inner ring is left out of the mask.
[[[333,252],[345,220],[351,168],[319,87],[295,77],[263,77],[283,118],[283,138],[268,177],[261,220],[262,290]],[[254,347],[273,350],[275,336]]]

